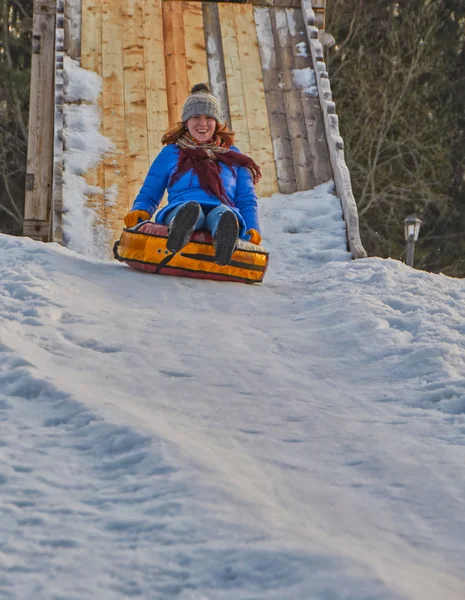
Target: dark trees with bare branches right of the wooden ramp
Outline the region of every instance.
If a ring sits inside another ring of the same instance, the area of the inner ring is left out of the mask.
[[[367,251],[402,258],[416,212],[417,266],[465,275],[463,4],[329,0],[327,62]]]

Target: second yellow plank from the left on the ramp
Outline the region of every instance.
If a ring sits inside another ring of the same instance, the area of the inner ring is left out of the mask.
[[[115,153],[104,157],[105,189],[116,196],[111,208],[105,207],[105,223],[115,237],[128,208],[122,42],[121,0],[102,0],[103,134],[116,147]]]

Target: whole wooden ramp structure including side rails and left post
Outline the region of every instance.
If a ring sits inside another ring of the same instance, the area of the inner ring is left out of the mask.
[[[115,237],[163,133],[179,122],[190,88],[209,82],[236,144],[262,167],[257,193],[289,194],[334,179],[350,250],[365,256],[318,41],[324,5],[35,0],[34,39],[41,41],[33,60],[24,233],[61,241],[64,43],[66,53],[103,80],[102,133],[114,152],[86,177],[94,190],[88,202],[95,222]],[[40,152],[40,161],[39,149],[47,152],[46,158]],[[104,198],[108,189],[117,190],[111,206]]]

